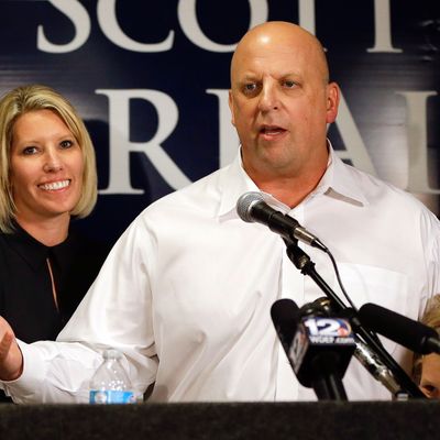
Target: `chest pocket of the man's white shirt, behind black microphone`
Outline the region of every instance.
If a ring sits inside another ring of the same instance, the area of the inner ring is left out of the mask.
[[[407,314],[408,276],[382,267],[338,263],[342,283],[354,305],[377,304],[397,314]],[[381,340],[388,351],[396,350],[396,342],[384,337]]]

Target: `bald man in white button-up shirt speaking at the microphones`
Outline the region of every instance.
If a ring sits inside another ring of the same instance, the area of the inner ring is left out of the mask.
[[[59,342],[19,349],[3,322],[0,378],[11,381],[4,386],[15,402],[87,399],[106,346],[124,353],[136,389],[155,383],[152,400],[315,399],[296,381],[270,310],[282,297],[300,306],[323,294],[277,234],[238,217],[246,191],[262,191],[324,242],[358,307],[419,316],[439,289],[439,222],[336,156],[326,133],[338,102],[315,36],[285,22],[251,30],[231,66],[241,155],[134,220]],[[307,253],[340,293],[327,255]],[[408,365],[407,352],[385,346]],[[389,398],[355,360],[344,385],[350,399]]]

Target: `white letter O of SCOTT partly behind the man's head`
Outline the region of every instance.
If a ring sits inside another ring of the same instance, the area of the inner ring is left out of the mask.
[[[197,21],[197,0],[180,0],[177,7],[177,15],[185,35],[197,46],[211,52],[232,52],[235,44],[219,44],[209,40],[202,32]],[[249,29],[267,21],[267,0],[249,0],[251,19]]]

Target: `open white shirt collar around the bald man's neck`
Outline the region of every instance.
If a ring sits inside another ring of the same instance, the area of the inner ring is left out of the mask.
[[[369,205],[358,179],[353,178],[353,168],[345,165],[338,157],[329,140],[328,148],[329,161],[327,170],[309,197],[323,195],[355,206]],[[238,217],[235,211],[237,200],[248,191],[260,191],[263,199],[274,208],[278,208],[282,211],[289,210],[284,204],[260,190],[244,170],[240,151],[235,160],[221,174],[220,187],[222,188],[222,196],[217,217],[221,220]]]

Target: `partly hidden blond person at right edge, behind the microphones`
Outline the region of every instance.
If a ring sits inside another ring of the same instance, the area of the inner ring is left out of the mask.
[[[429,300],[421,322],[432,327],[440,334],[440,295],[435,295]],[[429,398],[440,399],[440,355],[430,353],[417,356],[414,370],[420,389]]]

